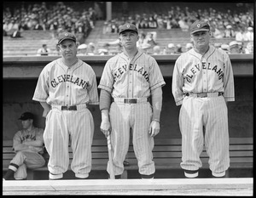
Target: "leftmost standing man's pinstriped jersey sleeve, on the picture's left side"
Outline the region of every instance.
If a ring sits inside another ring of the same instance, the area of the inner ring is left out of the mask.
[[[38,77],[38,83],[32,97],[35,101],[45,102],[49,97],[49,77],[47,68],[48,67],[45,66]]]

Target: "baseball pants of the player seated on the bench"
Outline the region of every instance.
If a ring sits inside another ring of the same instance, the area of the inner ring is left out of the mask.
[[[18,168],[12,166],[15,164]],[[9,168],[15,171],[15,179],[26,178],[26,168],[44,167],[44,157],[32,151],[18,151],[15,157],[10,161]]]

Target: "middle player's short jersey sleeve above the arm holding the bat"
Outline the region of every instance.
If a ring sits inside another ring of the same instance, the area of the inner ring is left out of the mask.
[[[109,59],[104,66],[104,70],[102,72],[102,78],[98,88],[104,89],[109,93],[112,92],[113,89],[113,75],[111,71],[111,65],[113,64],[113,59]]]

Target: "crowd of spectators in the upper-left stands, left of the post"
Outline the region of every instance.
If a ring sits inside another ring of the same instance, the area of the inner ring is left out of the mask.
[[[94,28],[98,15],[94,8],[79,12],[63,2],[49,5],[45,2],[29,4],[27,8],[3,8],[3,36],[13,36],[15,31],[50,30],[56,36],[61,31],[82,33],[84,37]]]

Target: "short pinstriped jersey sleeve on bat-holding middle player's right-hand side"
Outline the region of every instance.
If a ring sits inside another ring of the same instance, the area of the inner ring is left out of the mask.
[[[149,86],[151,90],[154,90],[155,88],[163,87],[166,85],[166,82],[164,81],[164,77],[162,76],[162,73],[160,71],[160,67],[157,64],[156,60],[152,58],[152,64],[149,68]]]

